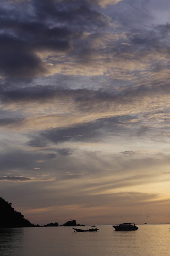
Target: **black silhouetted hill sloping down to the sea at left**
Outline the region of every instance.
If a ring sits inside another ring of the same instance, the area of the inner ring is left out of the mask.
[[[0,228],[34,227],[24,216],[11,207],[11,203],[0,197]]]

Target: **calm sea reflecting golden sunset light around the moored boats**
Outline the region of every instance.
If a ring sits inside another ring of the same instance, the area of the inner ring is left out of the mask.
[[[0,229],[2,256],[169,256],[170,225],[137,225],[136,231],[74,232],[71,227]]]

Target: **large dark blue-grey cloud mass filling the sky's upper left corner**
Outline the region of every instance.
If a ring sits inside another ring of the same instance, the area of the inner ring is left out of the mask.
[[[84,31],[107,24],[107,18],[89,1],[32,0],[17,3],[18,8],[15,5],[2,3],[0,12],[0,72],[6,77],[45,74],[37,51],[69,51]]]

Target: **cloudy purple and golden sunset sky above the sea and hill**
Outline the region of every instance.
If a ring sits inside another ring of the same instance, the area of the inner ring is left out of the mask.
[[[0,196],[30,222],[170,222],[169,10],[0,1]]]

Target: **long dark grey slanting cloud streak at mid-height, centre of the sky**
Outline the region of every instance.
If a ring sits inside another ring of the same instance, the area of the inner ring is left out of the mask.
[[[56,128],[45,130],[37,134],[37,136],[30,136],[33,137],[33,139],[31,139],[28,144],[30,146],[41,147],[45,145],[45,142],[48,144],[48,142],[59,143],[64,141],[100,141],[103,134],[107,133],[112,136],[118,135],[118,133],[120,133],[120,131],[124,129],[123,127],[121,128],[118,125],[121,124],[123,120],[131,120],[131,118],[133,117],[120,116],[113,118],[103,118],[97,119],[94,122],[88,122],[84,123],[83,125],[70,128]],[[59,151],[59,153],[64,152],[63,150]]]

